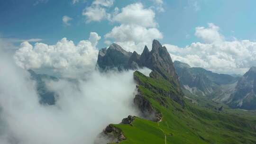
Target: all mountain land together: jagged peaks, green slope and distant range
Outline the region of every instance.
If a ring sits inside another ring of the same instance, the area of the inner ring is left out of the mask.
[[[108,125],[99,137],[107,138],[109,144],[256,144],[254,114],[232,109],[240,108],[232,107],[236,99],[254,94],[254,68],[242,77],[233,77],[178,61],[173,63],[166,47],[157,40],[151,51],[145,46],[141,55],[127,52],[117,44],[99,52],[97,68],[102,72],[140,67],[152,70],[149,77],[134,72],[134,105],[141,115]],[[225,87],[233,85],[230,101],[217,99],[224,97],[217,93],[225,93]]]

